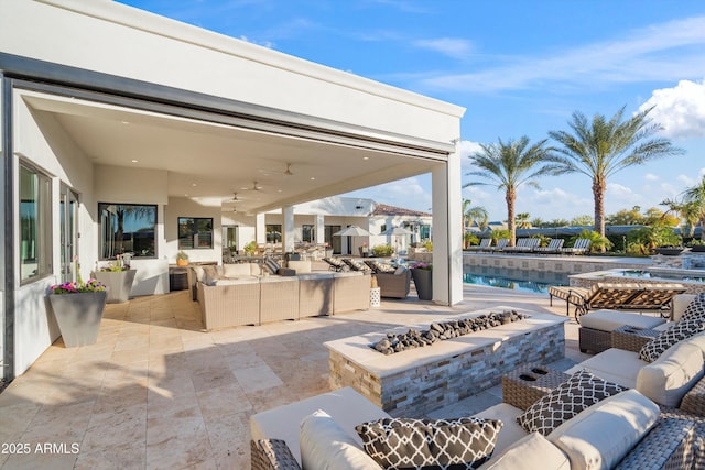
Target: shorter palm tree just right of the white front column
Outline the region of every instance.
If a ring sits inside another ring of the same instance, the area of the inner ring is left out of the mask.
[[[507,203],[507,226],[509,229],[509,244],[514,245],[517,229],[514,227],[514,203],[517,189],[522,184],[538,187],[535,177],[552,174],[556,166],[557,157],[552,149],[545,146],[547,139],[533,145],[529,144],[529,138],[523,135],[518,141],[509,140],[498,144],[480,144],[480,150],[470,155],[473,164],[479,170],[469,172],[468,176],[479,176],[488,182],[470,182],[463,187],[474,185],[491,185],[505,192]]]

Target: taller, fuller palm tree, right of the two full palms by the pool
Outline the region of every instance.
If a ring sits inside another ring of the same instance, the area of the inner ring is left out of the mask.
[[[593,179],[595,200],[595,231],[605,236],[605,189],[607,178],[628,166],[648,161],[679,155],[683,151],[671,141],[653,136],[662,128],[648,118],[653,107],[622,121],[625,107],[611,119],[595,114],[588,122],[579,111],[568,122],[573,133],[552,131],[549,135],[563,145],[558,173],[583,173]]]

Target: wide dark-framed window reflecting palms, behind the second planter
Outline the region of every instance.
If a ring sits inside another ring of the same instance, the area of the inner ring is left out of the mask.
[[[98,218],[101,260],[122,253],[156,256],[156,206],[99,203]]]

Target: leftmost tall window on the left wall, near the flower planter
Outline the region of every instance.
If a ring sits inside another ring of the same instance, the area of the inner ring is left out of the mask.
[[[52,273],[52,181],[20,164],[20,283]]]

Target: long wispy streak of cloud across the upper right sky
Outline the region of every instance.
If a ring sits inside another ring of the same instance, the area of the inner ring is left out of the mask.
[[[702,76],[705,76],[705,17],[695,17],[553,55],[517,57],[509,65],[487,70],[421,78],[421,84],[435,89],[488,92],[555,84],[595,87]]]

